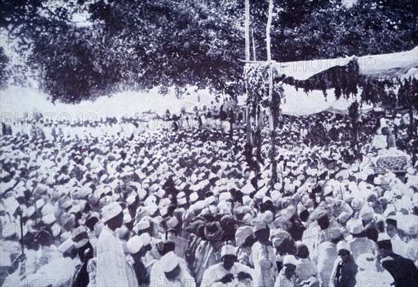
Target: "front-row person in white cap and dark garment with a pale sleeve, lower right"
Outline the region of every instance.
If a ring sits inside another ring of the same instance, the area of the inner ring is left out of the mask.
[[[336,245],[339,259],[334,262],[331,284],[335,287],[354,287],[356,284],[357,265],[350,252],[350,246],[346,241],[340,241]]]

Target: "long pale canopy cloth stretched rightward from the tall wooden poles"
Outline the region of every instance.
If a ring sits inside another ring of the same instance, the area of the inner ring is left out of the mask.
[[[359,73],[373,76],[379,79],[392,79],[410,72],[412,67],[418,67],[418,47],[410,51],[392,54],[351,56],[346,58],[334,58],[323,60],[305,60],[295,62],[272,62],[272,67],[277,74],[291,76],[295,80],[305,81],[320,72],[336,66],[346,66],[351,60],[357,60]],[[247,63],[250,67],[268,65],[267,61]]]

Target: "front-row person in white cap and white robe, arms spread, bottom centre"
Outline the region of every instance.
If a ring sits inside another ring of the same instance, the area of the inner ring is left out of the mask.
[[[216,281],[224,278],[226,274],[232,274],[234,277],[238,275],[238,277],[251,278],[251,281],[252,278],[255,277],[253,269],[236,262],[238,257],[236,255],[235,247],[232,245],[224,245],[222,247],[221,256],[221,263],[210,266],[210,268],[206,269],[203,273],[201,287],[211,286]]]

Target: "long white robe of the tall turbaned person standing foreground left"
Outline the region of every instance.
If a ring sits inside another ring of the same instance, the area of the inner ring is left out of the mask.
[[[103,227],[97,243],[96,286],[138,286],[134,270],[126,260],[121,240]]]

